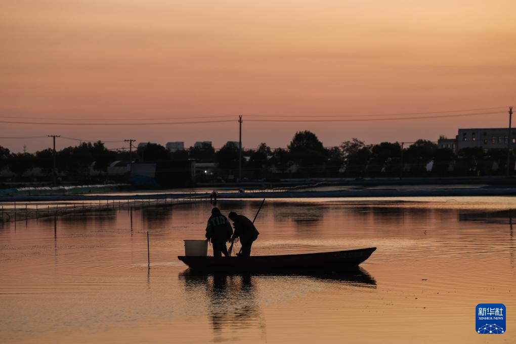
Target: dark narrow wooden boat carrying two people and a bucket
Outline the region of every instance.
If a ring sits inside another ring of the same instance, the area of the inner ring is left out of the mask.
[[[358,266],[376,247],[321,253],[286,254],[250,257],[178,256],[192,270],[202,271],[281,271],[331,270],[338,271]]]

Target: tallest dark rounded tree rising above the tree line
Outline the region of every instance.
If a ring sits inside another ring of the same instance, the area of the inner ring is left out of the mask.
[[[288,151],[304,174],[310,175],[324,170],[328,152],[314,133],[308,130],[297,132],[288,145]]]

